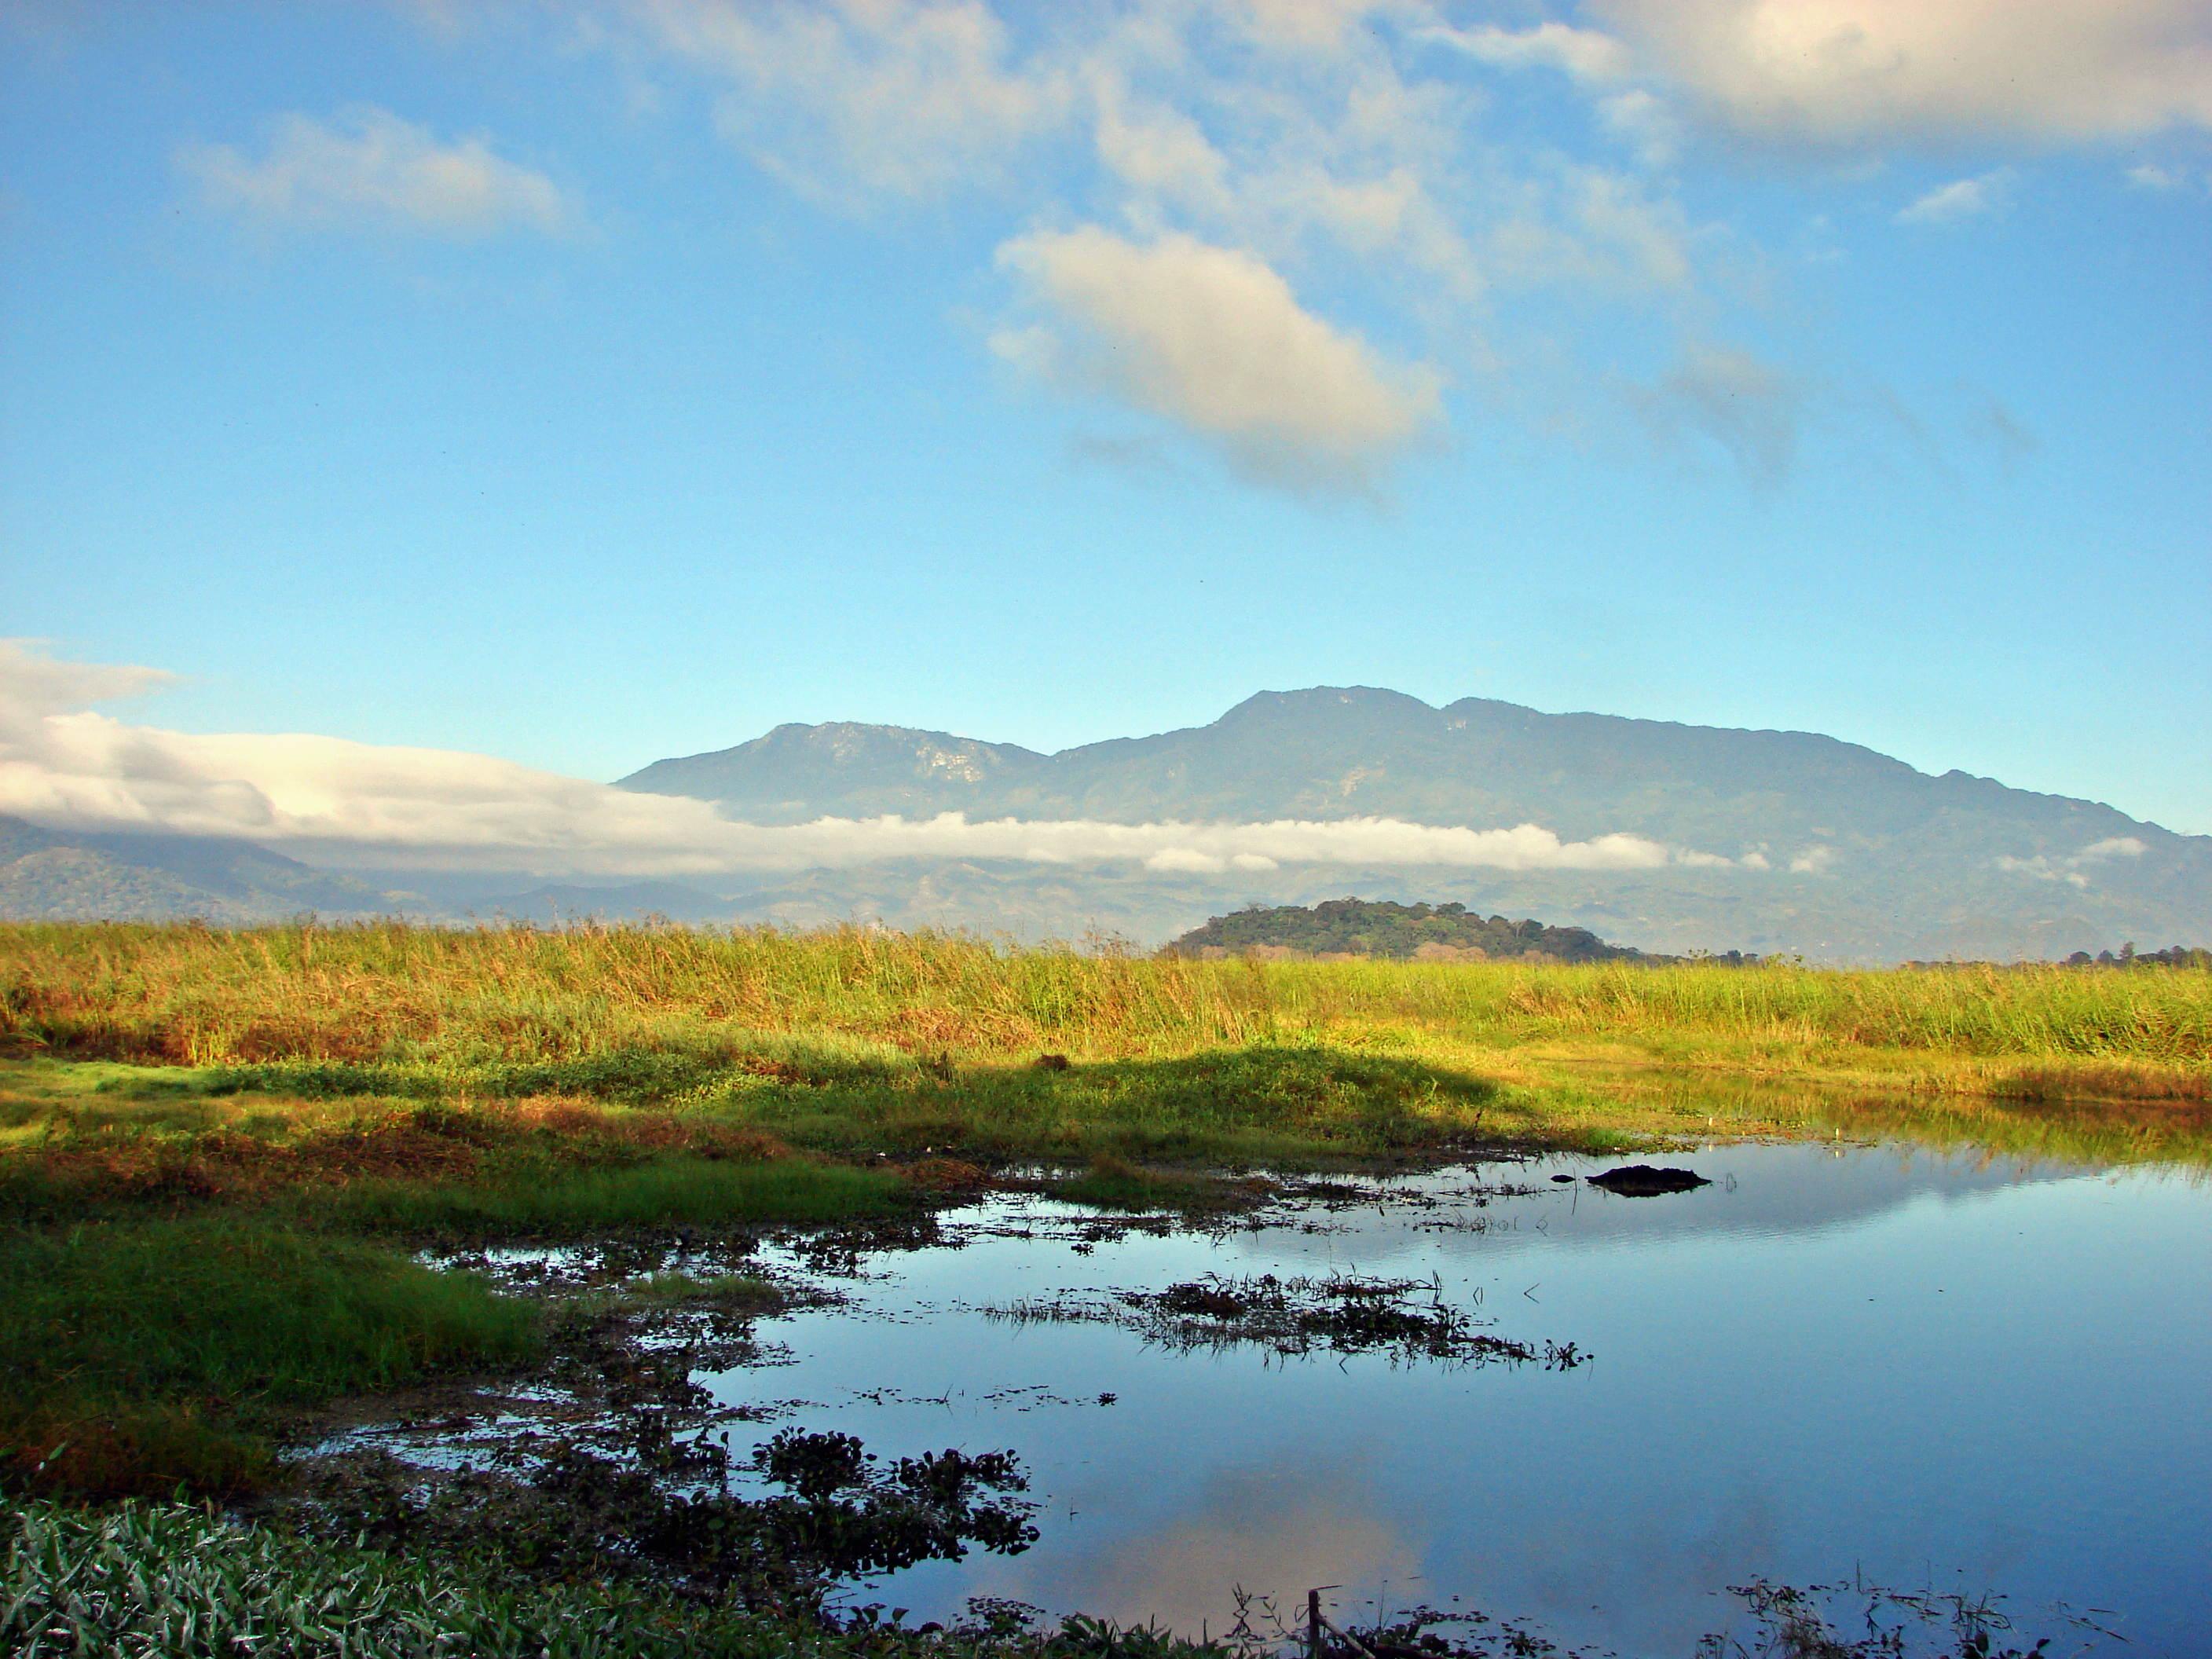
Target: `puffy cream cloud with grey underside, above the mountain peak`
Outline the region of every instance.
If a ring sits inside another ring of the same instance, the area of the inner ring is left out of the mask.
[[[1004,243],[1048,321],[993,341],[1009,363],[1108,392],[1254,478],[1365,489],[1442,422],[1442,376],[1305,310],[1256,254],[1097,226]]]

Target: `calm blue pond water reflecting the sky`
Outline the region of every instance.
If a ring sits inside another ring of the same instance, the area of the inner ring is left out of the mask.
[[[1340,1601],[1460,1595],[1551,1635],[1686,1652],[1752,1575],[1854,1568],[2117,1608],[2141,1655],[2212,1630],[2212,1190],[1924,1150],[1728,1146],[1661,1199],[1546,1188],[1486,1208],[1340,1210],[1221,1243],[978,1237],[878,1256],[849,1310],[774,1325],[792,1418],[880,1453],[1011,1447],[1044,1540],[880,1586],[1221,1628],[1230,1586]],[[1493,1166],[1544,1181],[1559,1161]],[[1467,1172],[1422,1181],[1464,1188]],[[1020,1214],[1004,1203],[987,1214]],[[1033,1214],[1064,1214],[1051,1206]],[[1482,1217],[1451,1232],[1444,1217]],[[971,1312],[1199,1272],[1440,1274],[1502,1336],[1595,1365],[1175,1356],[1097,1325]],[[1526,1294],[1524,1294],[1526,1292]],[[902,1400],[856,1394],[896,1387]],[[1062,1402],[982,1396],[1044,1385]],[[1117,1402],[1099,1407],[1097,1394]],[[951,1396],[945,1405],[918,1405]],[[1029,1409],[1020,1409],[1020,1407]]]

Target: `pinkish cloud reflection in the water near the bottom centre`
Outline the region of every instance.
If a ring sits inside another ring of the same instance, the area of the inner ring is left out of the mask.
[[[1383,1584],[1394,1601],[1420,1599],[1407,1597],[1420,1586],[1420,1548],[1360,1462],[1318,1455],[1219,1469],[1188,1511],[1141,1537],[1077,1562],[1013,1562],[993,1593],[1190,1632],[1201,1624],[1221,1630],[1239,1586],[1272,1595],[1285,1617],[1318,1584],[1343,1586],[1329,1597],[1336,1606],[1358,1606]]]

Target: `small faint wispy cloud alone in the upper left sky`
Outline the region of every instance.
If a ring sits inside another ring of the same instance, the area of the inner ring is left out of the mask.
[[[210,206],[265,223],[442,237],[557,234],[580,223],[575,204],[544,173],[493,155],[482,137],[440,144],[383,108],[334,122],[283,115],[261,155],[188,144],[177,168]]]

